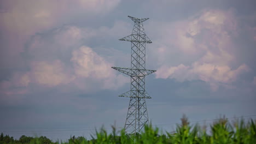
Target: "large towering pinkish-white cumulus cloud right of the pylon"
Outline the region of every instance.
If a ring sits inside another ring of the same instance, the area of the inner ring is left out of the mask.
[[[232,10],[204,10],[189,20],[171,26],[175,29],[170,27],[169,32],[172,33],[169,34],[176,36],[167,37],[169,39],[165,40],[168,41],[163,42],[176,50],[166,49],[167,46],[158,48],[158,56],[164,58],[159,59],[162,64],[156,72],[156,78],[181,82],[202,80],[216,91],[220,85],[230,85],[240,74],[249,70],[246,64],[232,64],[236,61],[232,38],[237,37],[238,33],[237,20]],[[177,61],[177,66],[168,64],[170,59],[167,55],[173,55],[172,50],[181,53],[179,56],[184,57],[185,61]]]

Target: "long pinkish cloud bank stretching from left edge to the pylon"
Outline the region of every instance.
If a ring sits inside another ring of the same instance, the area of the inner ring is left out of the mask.
[[[73,50],[70,61],[72,65],[67,65],[59,59],[53,62],[32,61],[30,71],[16,73],[10,80],[0,83],[1,93],[6,97],[27,94],[31,85],[53,88],[74,85],[80,91],[90,92],[117,89],[129,82],[127,77],[116,74],[116,71],[110,68],[113,64],[88,46]],[[69,90],[74,91],[72,88]]]

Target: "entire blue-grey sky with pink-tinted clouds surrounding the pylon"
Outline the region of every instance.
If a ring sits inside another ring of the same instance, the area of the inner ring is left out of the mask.
[[[130,88],[127,17],[144,28],[149,118],[190,121],[256,114],[254,1],[0,1],[0,130],[66,140],[124,126]],[[0,132],[1,132],[0,131]]]

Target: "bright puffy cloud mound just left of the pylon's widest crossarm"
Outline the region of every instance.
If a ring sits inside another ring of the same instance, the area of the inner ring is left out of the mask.
[[[98,86],[101,86],[101,88],[97,87],[98,89],[117,89],[128,82],[127,77],[115,74],[116,71],[111,69],[113,64],[107,62],[90,47],[82,46],[73,51],[71,61],[77,79],[92,79],[98,83]]]

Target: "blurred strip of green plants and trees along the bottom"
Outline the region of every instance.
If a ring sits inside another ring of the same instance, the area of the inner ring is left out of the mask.
[[[225,117],[220,117],[218,121],[213,122],[210,127],[211,133],[207,134],[206,127],[200,127],[198,124],[190,125],[188,118],[183,115],[181,124],[177,125],[174,132],[159,134],[159,128],[153,128],[152,124],[145,125],[141,134],[127,135],[123,130],[117,131],[112,126],[112,133],[108,134],[102,127],[95,130],[95,136],[91,140],[83,136],[72,136],[67,142],[53,142],[45,136],[30,137],[22,135],[19,140],[2,133],[0,135],[0,144],[19,143],[19,144],[104,144],[104,143],[144,143],[144,144],[255,144],[256,143],[256,124],[253,119],[245,123],[243,119],[236,119],[232,125]]]

